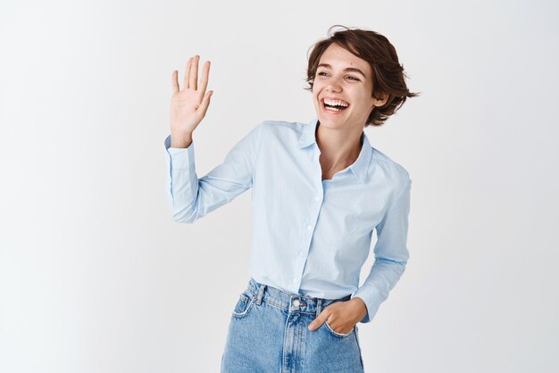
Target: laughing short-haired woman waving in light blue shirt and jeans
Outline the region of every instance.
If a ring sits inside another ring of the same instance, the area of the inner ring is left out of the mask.
[[[253,189],[251,278],[232,309],[222,372],[363,372],[358,322],[370,322],[402,276],[411,178],[371,146],[411,93],[386,37],[345,29],[313,46],[307,69],[317,117],[265,120],[197,178],[192,133],[213,91],[188,59],[172,73],[165,140],[173,219],[192,223]],[[359,275],[376,229],[375,262]]]

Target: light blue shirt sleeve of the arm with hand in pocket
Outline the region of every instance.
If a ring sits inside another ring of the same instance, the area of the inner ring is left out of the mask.
[[[407,249],[408,215],[410,211],[410,191],[412,180],[407,176],[405,186],[388,208],[377,229],[377,243],[374,246],[375,261],[369,276],[352,298],[363,299],[367,314],[362,323],[370,322],[388,293],[396,285],[409,259]]]

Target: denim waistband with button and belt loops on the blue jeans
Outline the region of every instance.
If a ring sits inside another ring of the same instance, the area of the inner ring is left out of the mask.
[[[286,311],[315,313],[317,315],[331,303],[345,302],[351,299],[351,294],[339,299],[323,299],[301,294],[289,294],[277,287],[260,284],[254,278],[250,278],[248,281],[246,291],[252,294],[254,301],[259,305],[262,301],[265,301]]]

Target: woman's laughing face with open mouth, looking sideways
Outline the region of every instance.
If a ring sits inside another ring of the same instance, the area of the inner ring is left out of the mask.
[[[336,43],[324,51],[313,82],[314,108],[321,125],[363,130],[372,108],[386,102],[371,96],[371,74],[369,62]],[[330,109],[327,104],[343,104],[346,108]]]

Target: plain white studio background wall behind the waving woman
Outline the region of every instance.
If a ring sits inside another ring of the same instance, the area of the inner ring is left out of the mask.
[[[552,1],[0,5],[0,371],[216,372],[250,192],[171,220],[171,72],[212,62],[204,175],[262,120],[312,120],[334,24],[396,46],[409,99],[371,144],[413,179],[410,261],[359,324],[367,372],[559,371]],[[362,282],[372,264],[362,270]]]

